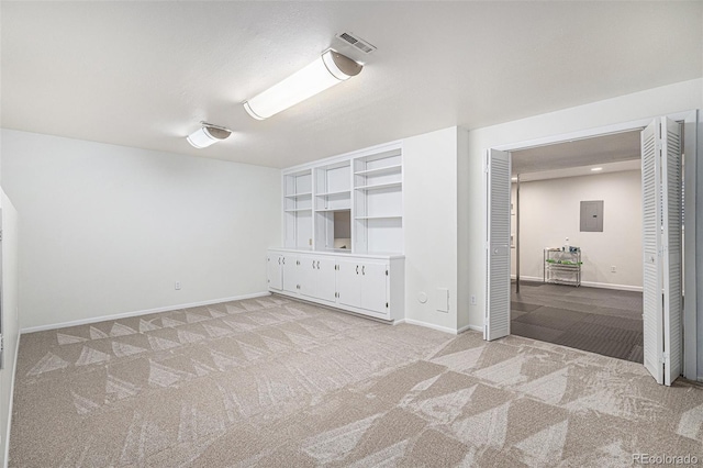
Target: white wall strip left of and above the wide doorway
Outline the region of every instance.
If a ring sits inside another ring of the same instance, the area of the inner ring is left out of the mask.
[[[459,213],[468,220],[459,225],[469,227],[458,235],[469,239],[469,281],[460,287],[477,296],[477,304],[469,307],[471,325],[483,326],[486,314],[486,149],[701,108],[701,83],[702,79],[684,81],[469,132],[470,168],[459,174],[459,183],[469,187],[469,209]]]

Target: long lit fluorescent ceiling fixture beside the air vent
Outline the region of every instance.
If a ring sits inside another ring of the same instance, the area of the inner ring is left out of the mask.
[[[264,120],[334,85],[358,75],[364,66],[332,49],[283,81],[244,102],[254,119]]]

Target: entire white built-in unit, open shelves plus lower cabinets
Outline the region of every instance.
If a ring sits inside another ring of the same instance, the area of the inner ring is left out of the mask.
[[[400,143],[283,170],[271,292],[390,322],[404,317]]]

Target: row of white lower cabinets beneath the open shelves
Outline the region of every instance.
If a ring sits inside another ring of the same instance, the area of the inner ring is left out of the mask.
[[[388,321],[404,317],[405,271],[400,255],[280,249],[269,252],[269,265],[278,266],[279,257],[282,288],[269,282],[272,292]]]

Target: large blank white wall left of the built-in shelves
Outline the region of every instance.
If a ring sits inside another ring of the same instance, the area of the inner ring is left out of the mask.
[[[3,130],[2,186],[22,328],[267,290],[278,169]]]

